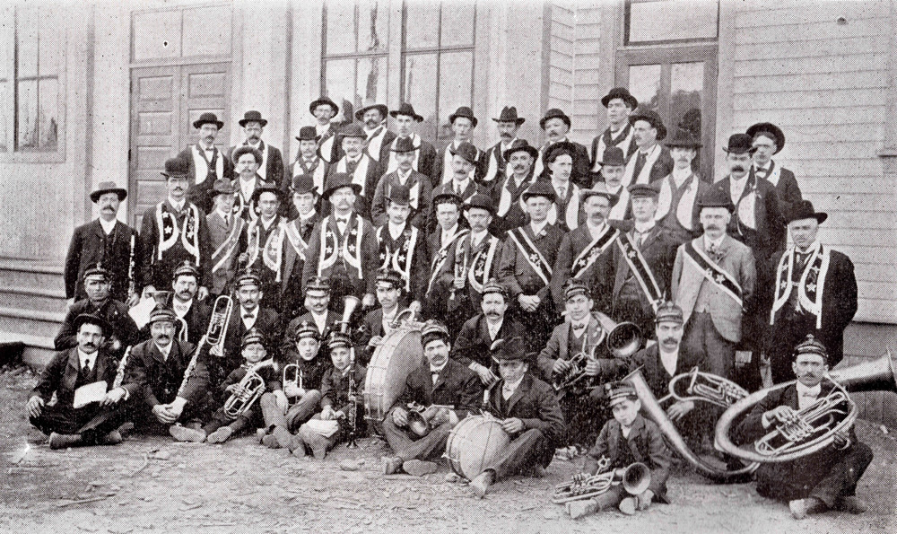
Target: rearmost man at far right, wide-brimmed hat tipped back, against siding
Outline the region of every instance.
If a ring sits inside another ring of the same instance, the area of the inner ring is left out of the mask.
[[[745,132],[753,139],[753,173],[769,180],[779,195],[779,210],[782,216],[803,199],[794,172],[788,171],[772,160],[785,146],[785,133],[771,122],[758,122]]]

